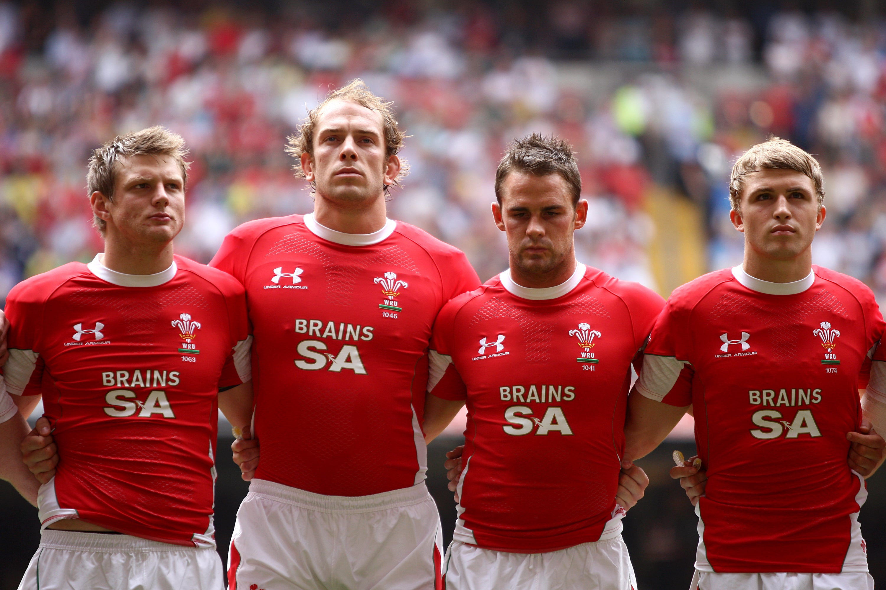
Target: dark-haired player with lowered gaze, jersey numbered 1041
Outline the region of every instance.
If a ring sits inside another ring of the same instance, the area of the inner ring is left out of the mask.
[[[444,567],[453,590],[636,587],[621,538],[635,502],[618,489],[622,426],[664,300],[576,261],[580,193],[568,142],[513,142],[493,203],[509,270],[447,303],[434,326],[425,433],[468,405]],[[625,475],[642,495],[640,468]]]

